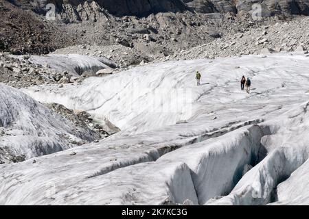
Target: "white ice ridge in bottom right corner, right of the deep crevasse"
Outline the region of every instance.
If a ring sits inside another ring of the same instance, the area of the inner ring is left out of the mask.
[[[261,144],[268,151],[268,155],[240,179],[228,196],[212,204],[262,205],[280,201],[301,204],[301,201],[308,200],[306,180],[304,183],[299,181],[299,186],[304,188],[304,191],[295,187],[290,188],[289,192],[282,190],[290,181],[295,180],[297,172],[301,172],[297,169],[309,157],[308,105],[309,102],[306,102],[280,116],[278,120],[264,123],[265,127],[268,126],[269,133],[262,138]],[[290,175],[294,177],[288,179]],[[291,190],[294,192],[294,199],[288,200],[286,194],[292,195]]]

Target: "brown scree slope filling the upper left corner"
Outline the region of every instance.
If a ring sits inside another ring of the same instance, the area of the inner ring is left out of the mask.
[[[8,1],[0,1],[0,14],[0,51],[42,54],[74,42],[58,25]]]

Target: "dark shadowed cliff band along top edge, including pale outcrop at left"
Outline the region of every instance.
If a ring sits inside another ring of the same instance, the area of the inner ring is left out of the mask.
[[[202,14],[232,13],[246,14],[258,10],[260,16],[274,16],[275,14],[303,14],[309,15],[309,2],[306,0],[150,0],[150,1],[51,1],[62,14],[62,21],[76,22],[106,16],[109,12],[115,16],[149,16],[159,12],[195,12]],[[106,11],[105,11],[106,10]],[[105,11],[105,12],[104,12]]]

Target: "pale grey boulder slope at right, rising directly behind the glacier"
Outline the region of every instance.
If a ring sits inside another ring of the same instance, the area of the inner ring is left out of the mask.
[[[263,25],[239,33],[227,33],[208,44],[175,53],[165,60],[194,60],[249,54],[304,52],[309,49],[309,17],[295,18],[285,23]]]

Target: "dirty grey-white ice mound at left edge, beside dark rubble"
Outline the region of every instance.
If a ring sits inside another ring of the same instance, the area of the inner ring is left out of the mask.
[[[76,128],[30,96],[1,83],[0,103],[2,162],[9,162],[11,155],[29,159],[69,149],[69,139],[93,140],[89,129]]]

